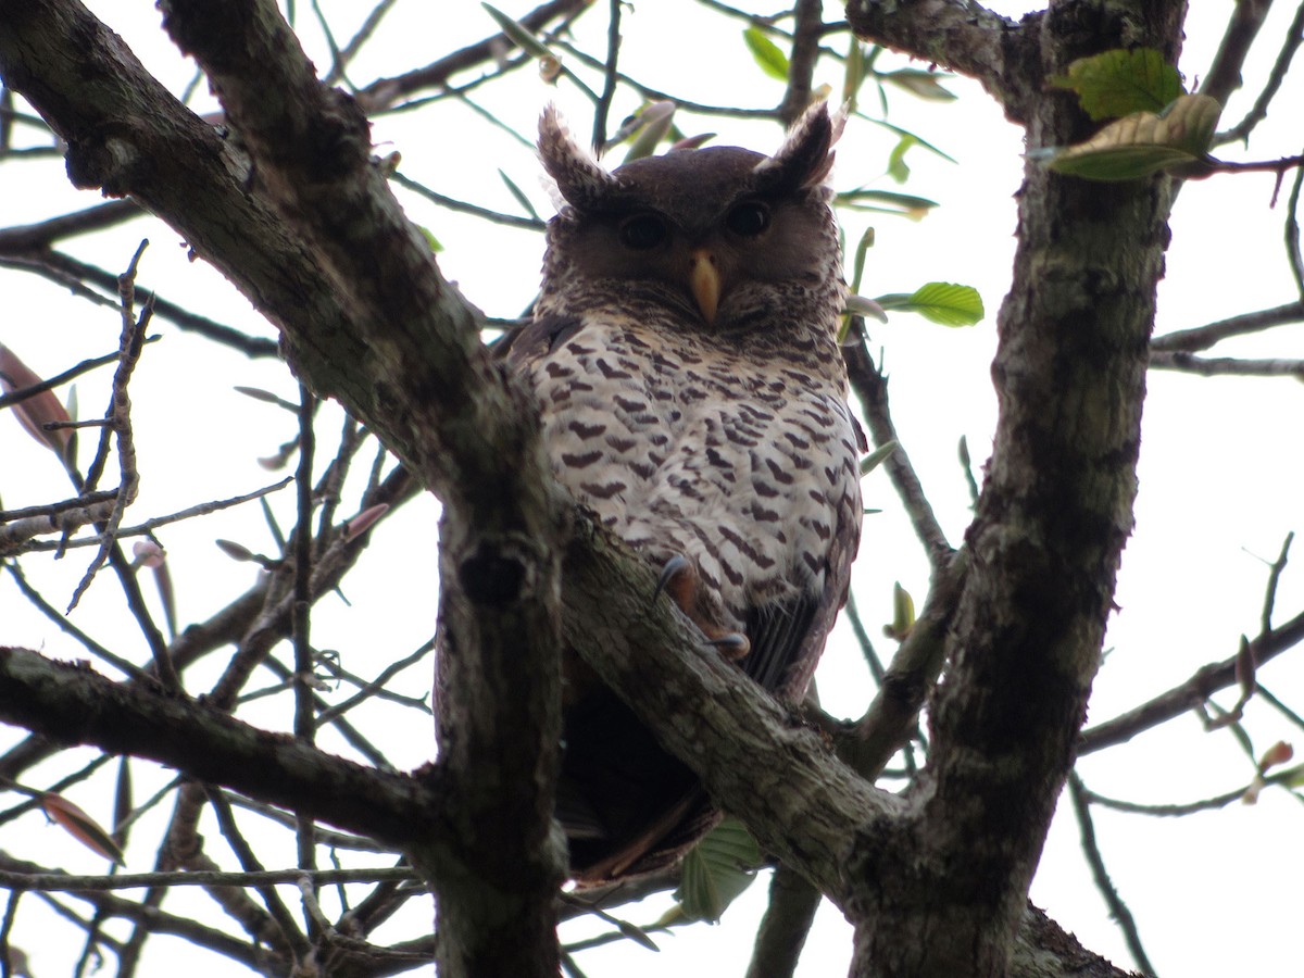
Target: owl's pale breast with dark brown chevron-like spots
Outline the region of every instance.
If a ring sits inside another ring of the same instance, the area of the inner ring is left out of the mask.
[[[653,563],[692,559],[725,627],[819,595],[848,536],[854,553],[858,455],[836,383],[592,325],[529,377],[558,480]]]

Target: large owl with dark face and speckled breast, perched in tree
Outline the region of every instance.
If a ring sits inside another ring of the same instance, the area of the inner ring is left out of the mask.
[[[789,704],[846,599],[862,512],[833,138],[819,104],[772,156],[685,149],[608,172],[549,108],[539,151],[562,206],[506,352],[558,481],[661,572],[703,655]],[[672,863],[719,812],[574,653],[563,678],[572,878]]]

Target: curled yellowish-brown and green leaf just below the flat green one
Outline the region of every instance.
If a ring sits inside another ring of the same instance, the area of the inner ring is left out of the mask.
[[[1055,172],[1088,180],[1137,180],[1161,170],[1194,170],[1208,159],[1219,115],[1215,99],[1181,95],[1158,115],[1133,112],[1086,142],[1052,147],[1043,155]]]

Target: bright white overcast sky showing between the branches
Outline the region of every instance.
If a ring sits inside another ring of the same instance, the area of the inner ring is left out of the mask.
[[[522,0],[501,3],[512,14],[531,5]],[[189,81],[192,69],[177,59],[158,30],[154,10],[142,5],[123,12],[119,4],[103,0],[91,7],[173,90]],[[1217,30],[1231,9],[1230,3],[1201,4],[1192,14],[1181,64],[1188,80],[1206,69],[1218,40],[1217,33],[1209,31]],[[374,55],[356,63],[351,77],[365,83],[377,76],[396,74],[492,30],[476,4],[460,7],[464,13],[451,23],[441,22],[439,31],[432,29],[428,10],[411,0],[400,4],[374,46]],[[301,5],[301,17],[303,13]],[[1256,91],[1275,56],[1274,39],[1283,37],[1291,13],[1282,7],[1265,26],[1262,50],[1256,50],[1247,65],[1249,93]],[[353,25],[348,18],[356,16],[352,8],[342,14],[338,37],[351,34]],[[446,14],[441,12],[442,16]],[[835,5],[829,5],[827,16],[836,16]],[[306,20],[303,17],[304,23]],[[691,30],[685,29],[686,23],[691,23]],[[595,9],[580,21],[576,35],[587,50],[600,51],[605,29],[601,9]],[[316,31],[305,27],[304,33],[317,46],[318,64],[326,64]],[[664,4],[644,0],[626,14],[622,68],[659,87],[703,102],[773,104],[781,86],[751,65],[739,34],[741,23],[713,22],[686,0]],[[841,77],[823,72],[816,81],[838,90]],[[941,205],[921,223],[878,215],[872,222],[866,215],[848,219],[850,241],[868,223],[876,226],[876,246],[870,254],[862,292],[870,296],[909,292],[927,280],[951,280],[974,284],[983,295],[987,318],[970,330],[947,330],[909,316],[872,327],[874,348],[883,348],[891,372],[893,411],[902,442],[956,544],[968,522],[968,493],[956,463],[956,443],[965,436],[979,463],[994,428],[988,364],[995,344],[995,314],[1013,254],[1012,194],[1021,179],[1022,146],[1021,133],[1004,123],[975,85],[956,80],[948,86],[962,95],[958,104],[918,103],[895,94],[891,120],[941,147],[958,160],[958,167],[915,149],[908,158],[914,176],[897,188],[882,176],[891,141],[878,128],[853,121],[838,150],[835,184],[841,189],[862,184],[900,189]],[[574,89],[546,87],[529,72],[518,73],[501,89],[493,85],[481,89],[477,99],[527,134],[548,100],[558,102],[578,130],[584,130],[589,119],[587,103]],[[1237,120],[1247,104],[1244,96],[1234,99],[1224,121]],[[1297,153],[1301,106],[1304,86],[1297,73],[1279,95],[1273,117],[1256,130],[1248,154],[1226,147],[1221,155],[1265,159]],[[623,96],[613,110],[613,120],[634,107],[632,98]],[[872,96],[862,107],[876,112]],[[391,149],[402,153],[400,168],[406,175],[441,192],[515,211],[496,173],[501,167],[546,214],[549,198],[537,179],[539,167],[531,151],[506,134],[472,125],[475,120],[455,106],[400,115],[377,123],[376,141],[382,153]],[[687,132],[719,130],[717,142],[758,150],[773,149],[781,138],[777,126],[763,124],[681,120],[681,126]],[[1161,286],[1158,333],[1198,326],[1294,297],[1279,244],[1282,207],[1269,209],[1271,184],[1270,176],[1251,175],[1219,177],[1183,190],[1172,220],[1168,274]],[[70,190],[57,164],[7,162],[0,168],[0,200],[5,202],[3,222],[16,224],[87,206],[95,197]],[[529,301],[541,254],[537,235],[512,230],[489,232],[479,222],[450,215],[415,197],[404,196],[403,201],[412,218],[445,245],[441,265],[472,301],[492,316],[514,316]],[[117,271],[125,267],[145,228],[136,223],[72,250]],[[142,263],[143,287],[158,288],[162,295],[215,319],[273,335],[220,276],[202,263],[186,261],[175,233],[158,226],[150,226],[147,233],[153,243]],[[116,346],[117,318],[112,312],[94,310],[35,278],[7,274],[5,291],[7,306],[14,312],[0,321],[0,343],[17,349],[38,372],[56,373]],[[156,515],[271,481],[254,464],[254,455],[270,455],[280,442],[293,437],[292,419],[232,395],[230,389],[233,383],[262,386],[293,398],[288,372],[279,364],[250,364],[163,323],[156,330],[166,339],[146,352],[132,386],[143,477],[133,515]],[[1300,327],[1295,326],[1227,344],[1227,349],[1228,355],[1301,357],[1304,342]],[[100,372],[78,383],[82,416],[103,409],[107,382],[108,374]],[[1304,528],[1304,462],[1297,434],[1301,408],[1304,387],[1290,379],[1151,374],[1137,531],[1124,556],[1118,595],[1121,612],[1111,623],[1107,640],[1111,652],[1095,686],[1093,722],[1168,689],[1208,661],[1231,655],[1240,634],[1257,630],[1266,578],[1264,561],[1275,557],[1288,531]],[[327,426],[319,430],[326,437]],[[326,450],[322,449],[323,456]],[[200,484],[197,473],[202,473]],[[866,505],[884,510],[866,518],[855,571],[862,613],[875,629],[891,617],[893,580],[902,582],[921,601],[927,567],[887,480],[875,473],[865,489]],[[65,490],[48,454],[12,421],[0,420],[4,505],[34,505]],[[342,515],[349,511],[348,506],[342,507]],[[276,501],[275,509],[288,526],[292,499]],[[338,648],[346,665],[363,674],[374,674],[390,659],[406,655],[433,629],[430,541],[436,509],[422,502],[409,510],[396,526],[387,526],[374,536],[366,566],[347,587],[353,606],[326,601],[314,615],[314,636]],[[211,541],[216,536],[239,540],[250,549],[271,548],[253,510],[184,523],[162,535],[183,622],[202,619],[250,580],[248,565],[215,556]],[[46,558],[23,562],[56,604],[70,595],[83,565],[81,556],[69,557],[63,565]],[[1279,618],[1294,614],[1301,601],[1300,575],[1287,570],[1278,595]],[[145,649],[126,627],[117,605],[117,591],[104,578],[83,600],[73,621],[108,640],[121,655],[143,661]],[[21,599],[4,576],[0,576],[0,622],[4,622],[0,640],[44,648],[53,656],[78,657],[77,647],[46,621],[23,614]],[[377,622],[385,622],[381,642],[376,640]],[[882,655],[889,655],[887,640],[879,645]],[[867,699],[863,677],[855,648],[845,638],[835,640],[818,677],[825,705],[835,713],[858,715]],[[1301,678],[1290,656],[1262,673],[1262,681],[1287,699]],[[428,668],[422,665],[404,679],[407,689],[420,695],[428,687]],[[1223,696],[1221,702],[1230,704],[1231,699]],[[287,722],[279,707],[269,704],[265,709],[241,716],[269,725]],[[391,746],[394,763],[412,767],[428,759],[429,721],[413,713],[399,724]],[[1248,725],[1257,751],[1278,738],[1297,739],[1275,713],[1257,704],[1249,709]],[[81,754],[82,760],[89,756]],[[60,762],[42,768],[40,775],[48,781],[52,772],[72,767]],[[1188,717],[1124,748],[1093,756],[1082,772],[1103,794],[1172,802],[1230,790],[1248,780],[1251,767],[1227,733],[1205,735]],[[99,812],[107,820],[106,784],[83,785],[70,795],[93,811],[100,806]],[[137,790],[143,797],[147,789],[138,784]],[[166,812],[159,812],[138,827],[137,848],[129,852],[130,870],[147,868],[164,816]],[[1097,810],[1097,831],[1114,880],[1138,919],[1161,974],[1193,978],[1297,973],[1297,965],[1292,966],[1297,955],[1290,938],[1301,910],[1299,879],[1304,861],[1297,844],[1299,819],[1299,806],[1274,792],[1266,793],[1254,807],[1236,805],[1183,820],[1116,816]],[[20,835],[20,827],[25,835]],[[215,840],[216,832],[210,829],[209,837]],[[102,870],[94,857],[67,845],[57,829],[42,827],[39,816],[8,825],[0,846],[69,871]],[[269,848],[267,853],[271,852]],[[762,880],[719,927],[699,926],[659,938],[660,955],[618,945],[588,952],[579,961],[591,978],[717,974],[720,961],[745,956],[739,948],[750,947],[755,921],[764,908],[764,892]],[[1118,931],[1107,919],[1078,855],[1071,815],[1060,818],[1052,828],[1033,897],[1088,947],[1119,965],[1128,964]],[[286,898],[292,898],[289,891]],[[173,896],[167,906],[180,910],[186,901],[206,904],[198,896]],[[30,910],[33,901],[25,906]],[[645,923],[662,908],[660,902],[625,914]],[[38,949],[26,935],[18,943],[25,943],[33,953],[35,974],[68,971],[67,944]],[[151,952],[151,970],[142,974],[171,973],[177,962],[194,960],[193,955],[172,958],[177,951],[175,943],[160,943]],[[799,974],[803,978],[842,974],[849,956],[849,930],[836,910],[825,905]],[[735,970],[741,973],[742,965]]]

